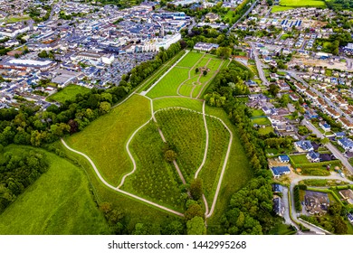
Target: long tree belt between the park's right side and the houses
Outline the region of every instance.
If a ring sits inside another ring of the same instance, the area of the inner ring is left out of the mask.
[[[233,61],[229,68],[218,73],[205,96],[213,98],[217,93],[225,98],[222,107],[236,126],[237,134],[256,176],[232,196],[222,217],[219,233],[265,234],[276,222],[272,213],[272,174],[267,170],[265,143],[253,128],[250,119],[252,110],[234,98],[234,95],[248,92],[235,91],[236,89],[232,89],[234,85],[230,85],[230,83],[243,85],[243,81],[249,78],[249,70]],[[271,141],[268,144],[271,144]]]

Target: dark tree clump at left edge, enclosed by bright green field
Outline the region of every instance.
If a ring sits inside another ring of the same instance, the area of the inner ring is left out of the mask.
[[[15,155],[6,152],[4,156],[5,161],[0,164],[0,212],[48,169],[45,155],[38,151],[24,150]]]

